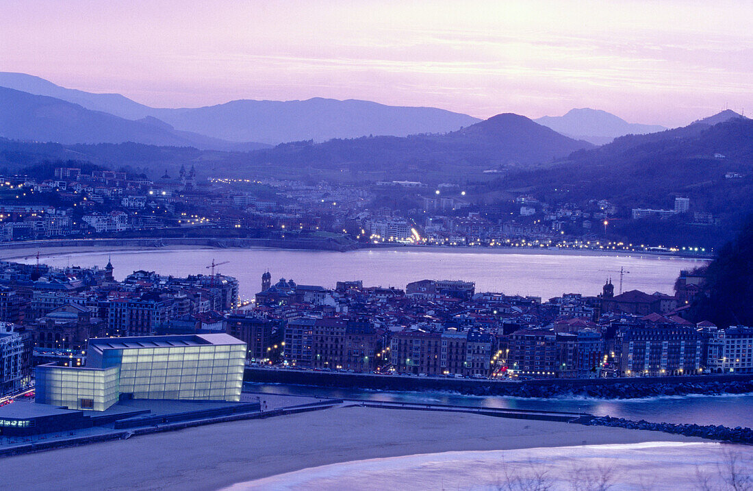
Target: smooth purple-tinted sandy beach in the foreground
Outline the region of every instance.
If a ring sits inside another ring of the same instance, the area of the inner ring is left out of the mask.
[[[702,441],[623,428],[339,407],[0,459],[8,489],[220,489],[303,468],[462,450]]]

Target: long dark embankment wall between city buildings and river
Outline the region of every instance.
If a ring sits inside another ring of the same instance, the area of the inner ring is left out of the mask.
[[[247,367],[244,381],[338,389],[456,392],[463,395],[500,395],[521,398],[634,399],[663,395],[719,395],[753,392],[753,374],[511,381]]]

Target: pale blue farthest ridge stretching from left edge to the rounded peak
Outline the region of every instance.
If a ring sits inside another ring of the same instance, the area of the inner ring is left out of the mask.
[[[272,145],[308,139],[323,142],[369,135],[447,133],[480,121],[444,109],[391,106],[356,99],[241,99],[201,108],[151,108],[120,94],[66,89],[32,75],[8,72],[0,72],[0,87],[55,97],[126,119],[156,117],[175,130],[215,139]]]

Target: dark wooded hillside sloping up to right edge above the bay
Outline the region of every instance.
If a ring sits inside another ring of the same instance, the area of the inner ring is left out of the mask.
[[[674,197],[689,197],[691,212],[712,213],[731,227],[753,211],[753,120],[622,137],[550,169],[511,172],[498,186],[526,188],[552,203],[610,200],[620,218],[634,207],[669,209]]]

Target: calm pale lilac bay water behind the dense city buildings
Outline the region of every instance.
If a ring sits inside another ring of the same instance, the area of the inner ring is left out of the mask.
[[[4,257],[17,255],[6,251]],[[109,253],[72,252],[43,256],[54,266],[78,264],[84,267],[107,264]],[[362,279],[366,286],[404,288],[419,279],[462,279],[476,282],[476,291],[540,296],[543,299],[563,293],[595,295],[607,277],[619,288],[619,270],[624,291],[638,289],[671,293],[680,270],[700,266],[705,261],[641,255],[572,255],[559,252],[509,252],[476,250],[465,252],[416,249],[377,249],[354,252],[294,251],[285,249],[182,249],[112,252],[115,277],[123,279],[133,270],[154,270],[162,274],[186,276],[209,273],[212,259],[230,261],[218,273],[236,276],[241,297],[252,298],[261,288],[261,275],[269,270],[273,282],[293,279],[303,285],[334,288],[338,280]],[[34,257],[16,261],[32,263]]]

